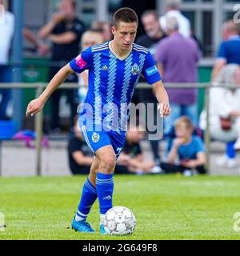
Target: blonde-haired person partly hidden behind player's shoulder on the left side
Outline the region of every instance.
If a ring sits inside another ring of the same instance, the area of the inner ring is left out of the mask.
[[[103,42],[102,34],[94,31],[87,30],[82,34],[81,50],[86,50],[90,46],[98,45]],[[85,70],[81,74],[78,74],[78,98],[79,102],[84,102],[86,98],[86,92],[88,88],[88,70]]]

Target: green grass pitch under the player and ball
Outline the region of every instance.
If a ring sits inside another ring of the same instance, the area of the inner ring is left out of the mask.
[[[0,239],[240,239],[240,177],[115,175],[114,206],[133,210],[137,226],[126,237],[99,234],[98,202],[89,222],[98,232],[79,234],[70,222],[86,176],[0,178]]]

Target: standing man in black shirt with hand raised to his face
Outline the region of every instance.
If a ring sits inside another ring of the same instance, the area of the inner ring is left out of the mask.
[[[39,30],[40,38],[49,38],[52,42],[51,61],[54,66],[50,67],[50,77],[58,72],[61,66],[70,62],[72,58],[79,53],[79,42],[84,30],[83,23],[77,18],[76,3],[73,0],[62,0],[58,7],[58,12],[53,15],[50,22]],[[57,65],[57,66],[55,66]],[[75,74],[72,74],[66,82],[78,82]],[[51,108],[53,116],[51,118],[51,129],[59,128],[58,111],[59,99],[63,90],[56,90],[51,97]],[[71,120],[74,120],[74,115],[78,107],[77,90],[64,90],[71,109]],[[73,124],[71,124],[73,125]]]

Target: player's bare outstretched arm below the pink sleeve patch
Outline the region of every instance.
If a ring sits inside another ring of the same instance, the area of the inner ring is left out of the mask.
[[[56,90],[66,80],[66,78],[68,78],[70,74],[73,73],[74,70],[70,68],[70,64],[63,66],[62,69],[54,75],[54,78],[52,78],[42,94],[28,104],[26,108],[26,117],[28,117],[29,115],[35,115],[39,111],[41,111],[47,99],[50,97],[51,94],[53,94],[54,90]]]

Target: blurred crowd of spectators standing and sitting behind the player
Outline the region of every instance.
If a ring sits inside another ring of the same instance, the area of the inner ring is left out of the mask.
[[[0,4],[4,4],[0,0]],[[180,0],[166,1],[166,14],[159,17],[156,10],[146,10],[139,18],[145,34],[136,43],[146,47],[154,55],[163,82],[198,82],[198,61],[202,56],[201,43],[191,30],[190,21],[181,13]],[[14,15],[6,11],[5,22],[0,22],[0,82],[11,82],[9,63],[10,45],[14,34]],[[234,21],[222,25],[222,43],[214,62],[210,89],[210,136],[226,143],[226,152],[218,159],[219,166],[235,167],[237,151],[240,150],[240,30]],[[64,65],[82,50],[112,39],[110,23],[95,21],[86,30],[78,18],[76,2],[59,1],[58,10],[43,25],[38,35],[29,28],[22,29],[23,37],[32,44],[39,55],[50,54],[52,63]],[[61,66],[50,66],[49,80]],[[52,117],[50,131],[60,131],[59,99],[65,94],[70,104],[71,126],[68,153],[73,174],[89,173],[93,155],[82,138],[75,114],[87,92],[87,71],[73,74],[66,82],[78,82],[78,90],[57,90],[50,98]],[[197,89],[167,89],[172,114],[164,120],[166,152],[160,155],[158,140],[151,140],[153,160],[143,158],[140,142],[151,129],[143,132],[141,125],[131,126],[127,131],[126,145],[118,158],[116,173],[156,174],[182,173],[186,175],[206,173],[206,156],[202,141],[206,130],[206,110],[198,118]],[[9,89],[0,89],[0,119],[6,120],[6,107],[10,101]],[[134,103],[157,103],[151,90],[138,90]],[[154,111],[151,122],[157,118]],[[141,117],[140,123],[141,123]],[[160,142],[162,143],[162,142]]]

